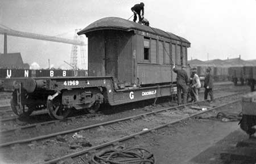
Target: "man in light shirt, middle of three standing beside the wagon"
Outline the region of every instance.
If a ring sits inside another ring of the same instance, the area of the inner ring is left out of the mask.
[[[201,88],[201,83],[199,76],[196,74],[197,73],[197,68],[193,67],[192,68],[192,74],[191,74],[191,102],[198,102],[199,101],[199,96],[198,92],[199,89]]]

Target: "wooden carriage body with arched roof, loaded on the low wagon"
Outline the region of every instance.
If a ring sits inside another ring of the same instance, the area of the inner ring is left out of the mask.
[[[114,76],[126,85],[170,83],[176,81],[170,64],[187,65],[187,40],[133,21],[104,18],[78,34],[88,37],[89,76]]]

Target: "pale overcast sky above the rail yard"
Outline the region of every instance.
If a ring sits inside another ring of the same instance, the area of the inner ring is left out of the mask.
[[[75,29],[114,16],[129,19],[133,5],[144,2],[150,26],[191,42],[188,59],[256,59],[256,0],[1,0],[0,24],[24,32],[73,38]],[[132,20],[132,18],[130,19]],[[72,45],[8,36],[8,52],[42,68],[67,66]],[[3,35],[0,35],[3,53]],[[80,66],[80,63],[79,63]]]

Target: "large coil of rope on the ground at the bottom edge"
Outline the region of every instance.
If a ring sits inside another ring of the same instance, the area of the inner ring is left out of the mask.
[[[154,155],[145,149],[108,149],[96,153],[90,159],[90,164],[127,164],[155,163]]]

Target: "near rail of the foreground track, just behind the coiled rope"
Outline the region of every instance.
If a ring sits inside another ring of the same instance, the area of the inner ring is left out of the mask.
[[[134,133],[133,135],[129,135],[129,136],[125,136],[125,137],[122,137],[120,139],[117,139],[117,140],[109,141],[108,143],[104,143],[104,144],[101,144],[101,145],[96,145],[96,146],[93,146],[93,147],[91,147],[89,149],[80,150],[79,152],[71,153],[71,154],[65,155],[63,157],[55,158],[55,159],[52,159],[50,161],[46,161],[46,162],[43,162],[43,163],[40,162],[40,163],[42,163],[42,164],[56,163],[58,161],[61,161],[61,160],[67,159],[67,158],[74,158],[74,157],[80,156],[82,154],[92,152],[93,150],[104,148],[106,146],[110,146],[110,145],[119,143],[121,141],[129,140],[129,139],[132,139],[132,138],[134,138],[136,136],[140,136],[140,135],[143,135],[145,133],[152,132],[152,131],[158,130],[160,128],[164,128],[164,127],[170,126],[171,124],[175,124],[175,123],[181,122],[183,120],[186,120],[188,118],[193,118],[194,116],[197,116],[197,115],[200,115],[200,114],[204,114],[204,113],[207,113],[209,111],[216,110],[216,109],[219,109],[219,108],[224,107],[226,105],[230,105],[232,103],[236,103],[236,102],[240,102],[240,101],[241,100],[231,101],[231,102],[225,103],[223,105],[213,107],[212,109],[209,109],[209,110],[206,110],[206,111],[201,111],[200,113],[192,114],[190,116],[186,116],[184,118],[175,120],[173,122],[169,122],[169,123],[166,123],[166,124],[154,127],[154,128],[150,128],[149,130],[145,130],[145,131],[141,131],[141,132],[138,132],[138,133]],[[36,163],[38,163],[38,162],[36,162]]]

